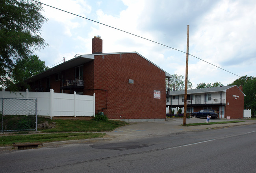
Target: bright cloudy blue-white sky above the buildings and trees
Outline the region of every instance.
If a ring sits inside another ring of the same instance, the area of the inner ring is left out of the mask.
[[[256,76],[255,0],[41,0],[97,22],[186,52],[189,25],[188,78],[232,83]],[[43,5],[48,18],[41,34],[48,47],[37,52],[50,67],[91,54],[91,39],[100,35],[103,53],[136,51],[169,74],[185,76],[186,54]],[[227,72],[230,71],[231,73]],[[232,74],[234,73],[234,74]]]

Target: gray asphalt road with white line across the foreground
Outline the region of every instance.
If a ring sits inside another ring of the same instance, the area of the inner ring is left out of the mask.
[[[256,124],[0,154],[3,173],[255,173]]]

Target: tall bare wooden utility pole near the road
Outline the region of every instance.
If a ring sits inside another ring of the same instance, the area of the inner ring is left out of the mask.
[[[183,126],[186,126],[187,118],[187,73],[188,73],[188,45],[189,45],[189,25],[187,25],[187,56],[186,56],[186,77],[185,77],[185,94],[184,94],[184,116]]]

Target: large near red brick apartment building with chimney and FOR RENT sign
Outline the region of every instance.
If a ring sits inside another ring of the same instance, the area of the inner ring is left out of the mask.
[[[96,112],[110,119],[165,119],[165,78],[170,75],[137,52],[102,53],[92,39],[92,54],[80,55],[26,80],[32,91],[96,95]]]

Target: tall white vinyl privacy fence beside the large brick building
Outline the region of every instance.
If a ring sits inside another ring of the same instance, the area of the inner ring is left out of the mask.
[[[95,94],[76,95],[50,92],[9,92],[2,91],[2,98],[37,98],[37,115],[41,116],[83,116],[93,117],[95,115]],[[13,106],[15,109],[15,106]],[[15,115],[17,115],[17,111]],[[22,114],[21,114],[22,115]]]

